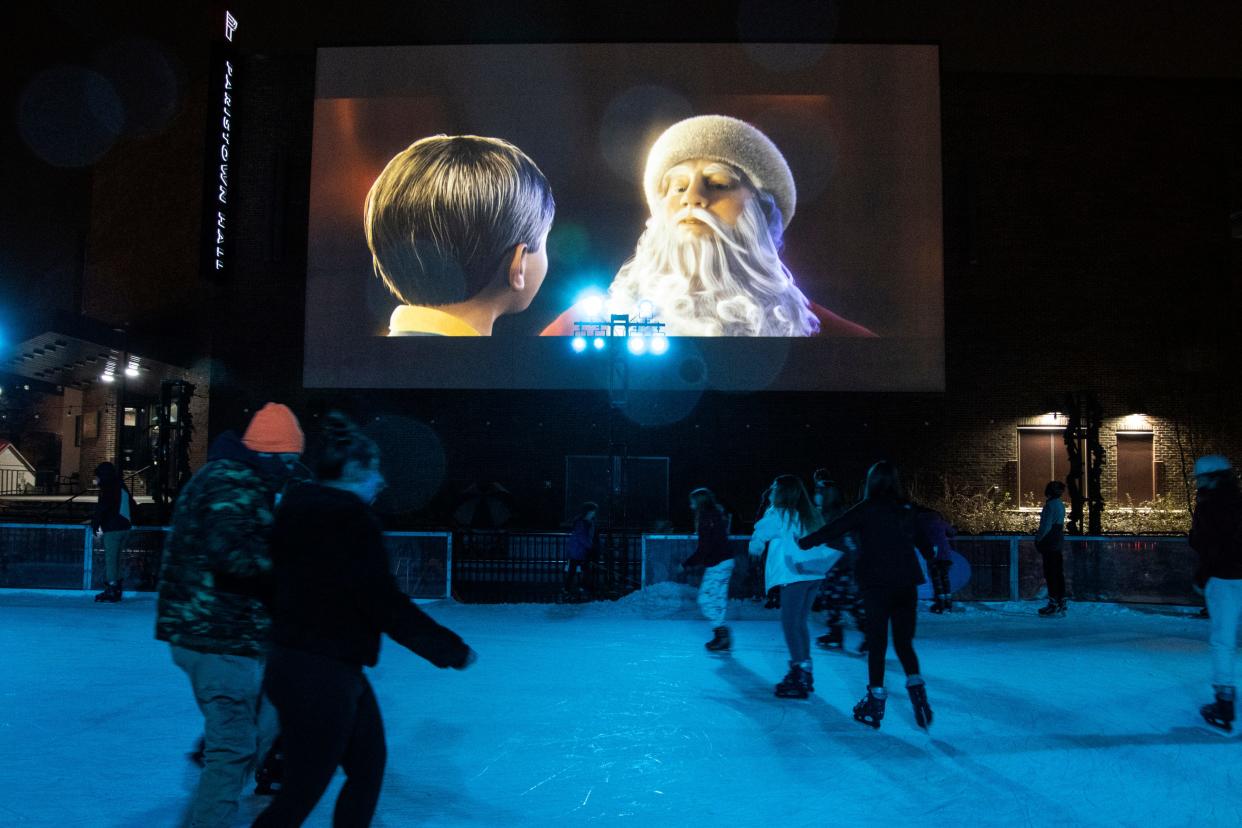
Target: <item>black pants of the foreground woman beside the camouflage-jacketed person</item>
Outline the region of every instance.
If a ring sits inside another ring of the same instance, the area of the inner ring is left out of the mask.
[[[263,688],[281,718],[284,780],[255,826],[301,826],[339,766],[345,785],[333,826],[369,826],[380,798],[388,746],[384,722],[361,667],[277,648]]]

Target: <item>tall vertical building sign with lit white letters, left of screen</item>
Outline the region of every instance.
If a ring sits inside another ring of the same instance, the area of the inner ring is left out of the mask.
[[[227,281],[232,272],[235,135],[237,133],[237,30],[233,12],[212,4],[211,87],[207,103],[202,199],[202,274]]]

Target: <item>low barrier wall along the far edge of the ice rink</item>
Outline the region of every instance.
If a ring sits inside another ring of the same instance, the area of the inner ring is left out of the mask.
[[[154,590],[165,526],[135,526],[124,552],[125,588]],[[391,531],[385,545],[404,592],[417,598],[462,602],[561,600],[565,533]],[[658,583],[696,586],[698,571],[682,571],[694,535],[633,535],[616,551],[589,561],[586,596],[615,596]],[[733,598],[763,596],[761,561],[746,554],[749,536],[730,535],[737,566]],[[601,544],[602,546],[602,544]],[[1023,601],[1042,597],[1043,567],[1028,535],[961,535],[958,551],[971,577],[960,601]],[[1073,536],[1064,544],[1067,595],[1074,601],[1201,606],[1191,586],[1197,557],[1185,536]],[[103,545],[88,525],[0,523],[0,587],[98,590]]]

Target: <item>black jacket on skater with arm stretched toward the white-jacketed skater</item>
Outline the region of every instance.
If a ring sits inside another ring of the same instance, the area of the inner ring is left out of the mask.
[[[933,555],[932,544],[914,518],[914,508],[886,497],[867,498],[828,525],[797,541],[802,549],[820,544],[841,547],[842,535],[854,533],[858,557],[854,578],[862,588],[913,587],[923,583],[914,557]]]

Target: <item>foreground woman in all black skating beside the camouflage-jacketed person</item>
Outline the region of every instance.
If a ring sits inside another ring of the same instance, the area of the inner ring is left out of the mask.
[[[318,483],[292,489],[272,528],[273,649],[263,686],[276,705],[284,778],[256,826],[301,826],[340,767],[335,826],[368,826],[384,781],[384,724],[363,672],[386,633],[436,667],[474,652],[420,610],[389,569],[370,503],[384,488],[379,449],[339,413],[325,421]]]

